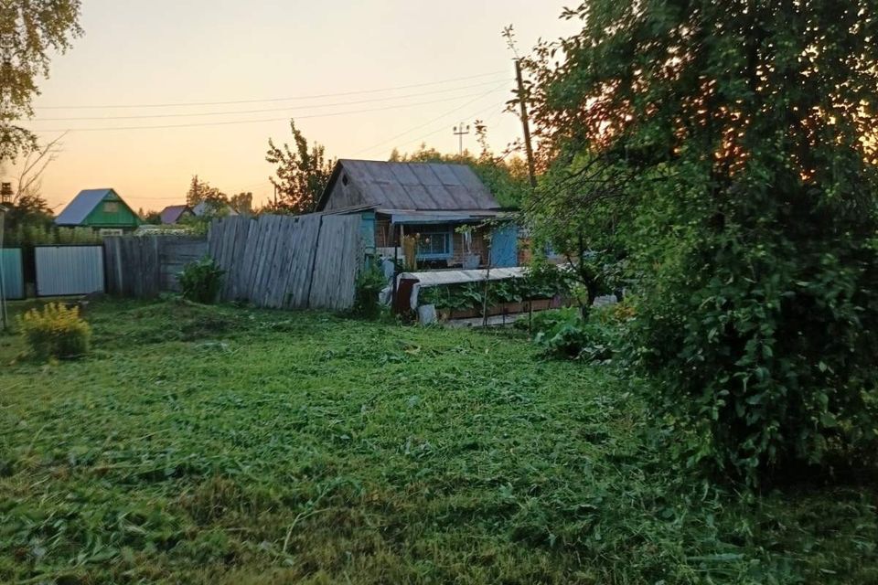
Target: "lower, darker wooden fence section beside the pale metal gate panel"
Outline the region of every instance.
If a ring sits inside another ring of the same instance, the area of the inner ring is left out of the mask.
[[[203,238],[112,237],[103,240],[107,293],[151,298],[179,291],[177,273],[208,253]]]

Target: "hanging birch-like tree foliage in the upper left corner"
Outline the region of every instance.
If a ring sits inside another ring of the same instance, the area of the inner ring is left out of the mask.
[[[5,0],[0,5],[0,160],[37,149],[18,125],[33,115],[37,77],[48,77],[49,52],[65,52],[82,34],[80,0]]]

